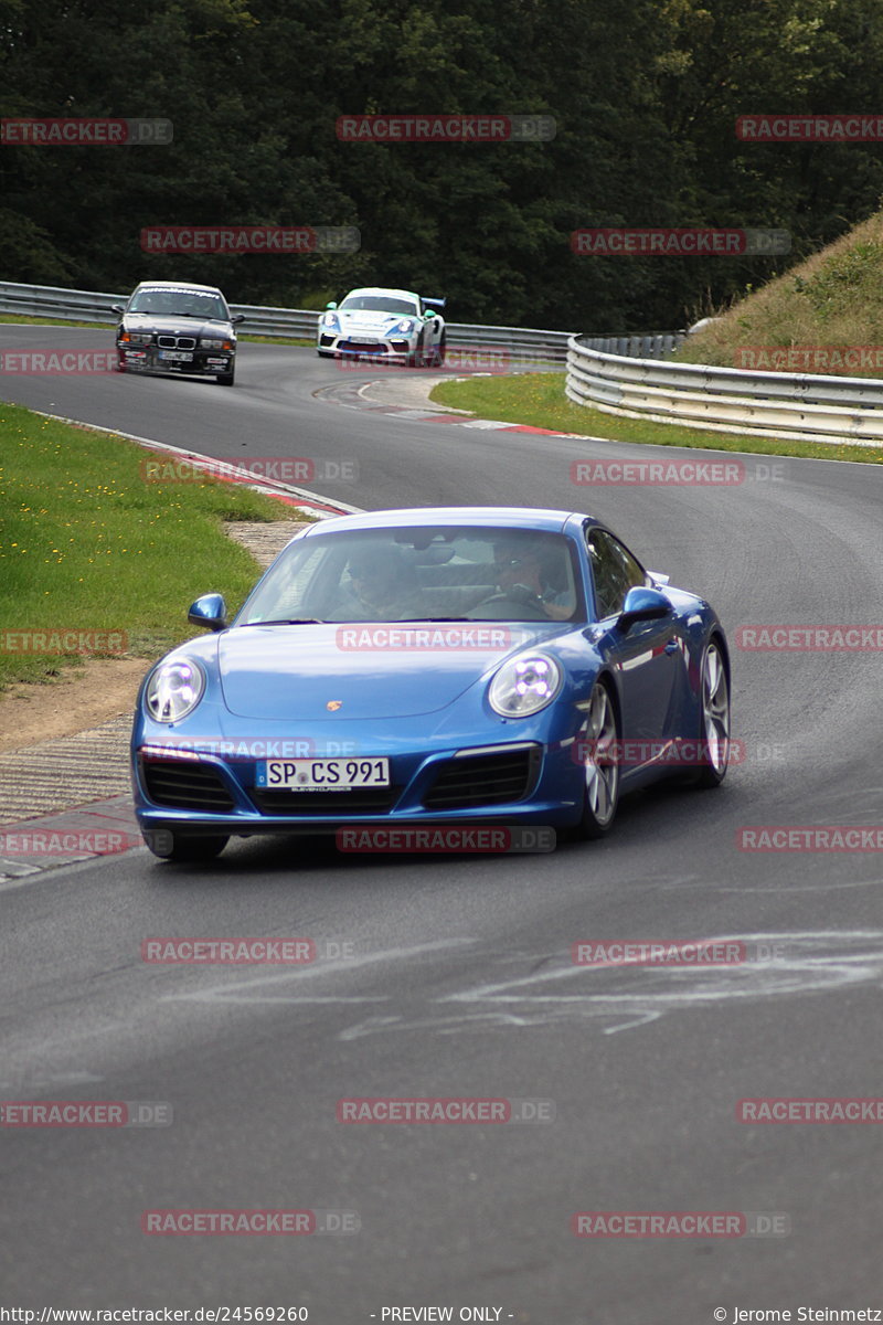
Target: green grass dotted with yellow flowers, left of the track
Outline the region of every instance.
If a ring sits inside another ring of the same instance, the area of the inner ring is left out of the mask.
[[[78,661],[21,652],[8,631],[124,632],[126,653],[159,656],[195,633],[195,598],[217,590],[236,607],[257,580],[224,521],[304,518],[238,484],[147,482],[156,458],[0,401],[0,690]],[[94,656],[111,655],[119,644]]]

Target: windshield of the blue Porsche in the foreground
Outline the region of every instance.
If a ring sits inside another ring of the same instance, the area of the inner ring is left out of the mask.
[[[298,539],[237,616],[262,621],[584,620],[571,539],[479,526]]]

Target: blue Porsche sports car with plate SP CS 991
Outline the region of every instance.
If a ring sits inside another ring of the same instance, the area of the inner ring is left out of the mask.
[[[152,668],[132,731],[138,820],[164,859],[352,828],[600,837],[622,792],[727,772],[718,616],[589,515],[327,519],[233,620],[218,594],[188,619],[212,633]]]

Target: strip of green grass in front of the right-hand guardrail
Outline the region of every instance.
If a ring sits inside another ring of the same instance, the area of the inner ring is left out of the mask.
[[[694,447],[704,450],[739,450],[759,456],[794,456],[812,460],[862,460],[883,462],[878,449],[850,445],[826,445],[821,441],[793,441],[785,437],[756,437],[704,428],[682,428],[679,424],[624,419],[575,405],[564,395],[563,372],[526,372],[512,378],[467,378],[442,382],[432,392],[438,404],[467,409],[479,419],[502,423],[524,423],[555,432],[577,432],[635,445]]]

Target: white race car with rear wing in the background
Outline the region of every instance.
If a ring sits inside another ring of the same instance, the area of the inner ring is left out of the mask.
[[[437,368],[445,362],[445,299],[421,299],[410,290],[349,290],[326,305],[316,350],[323,359],[389,359]]]

